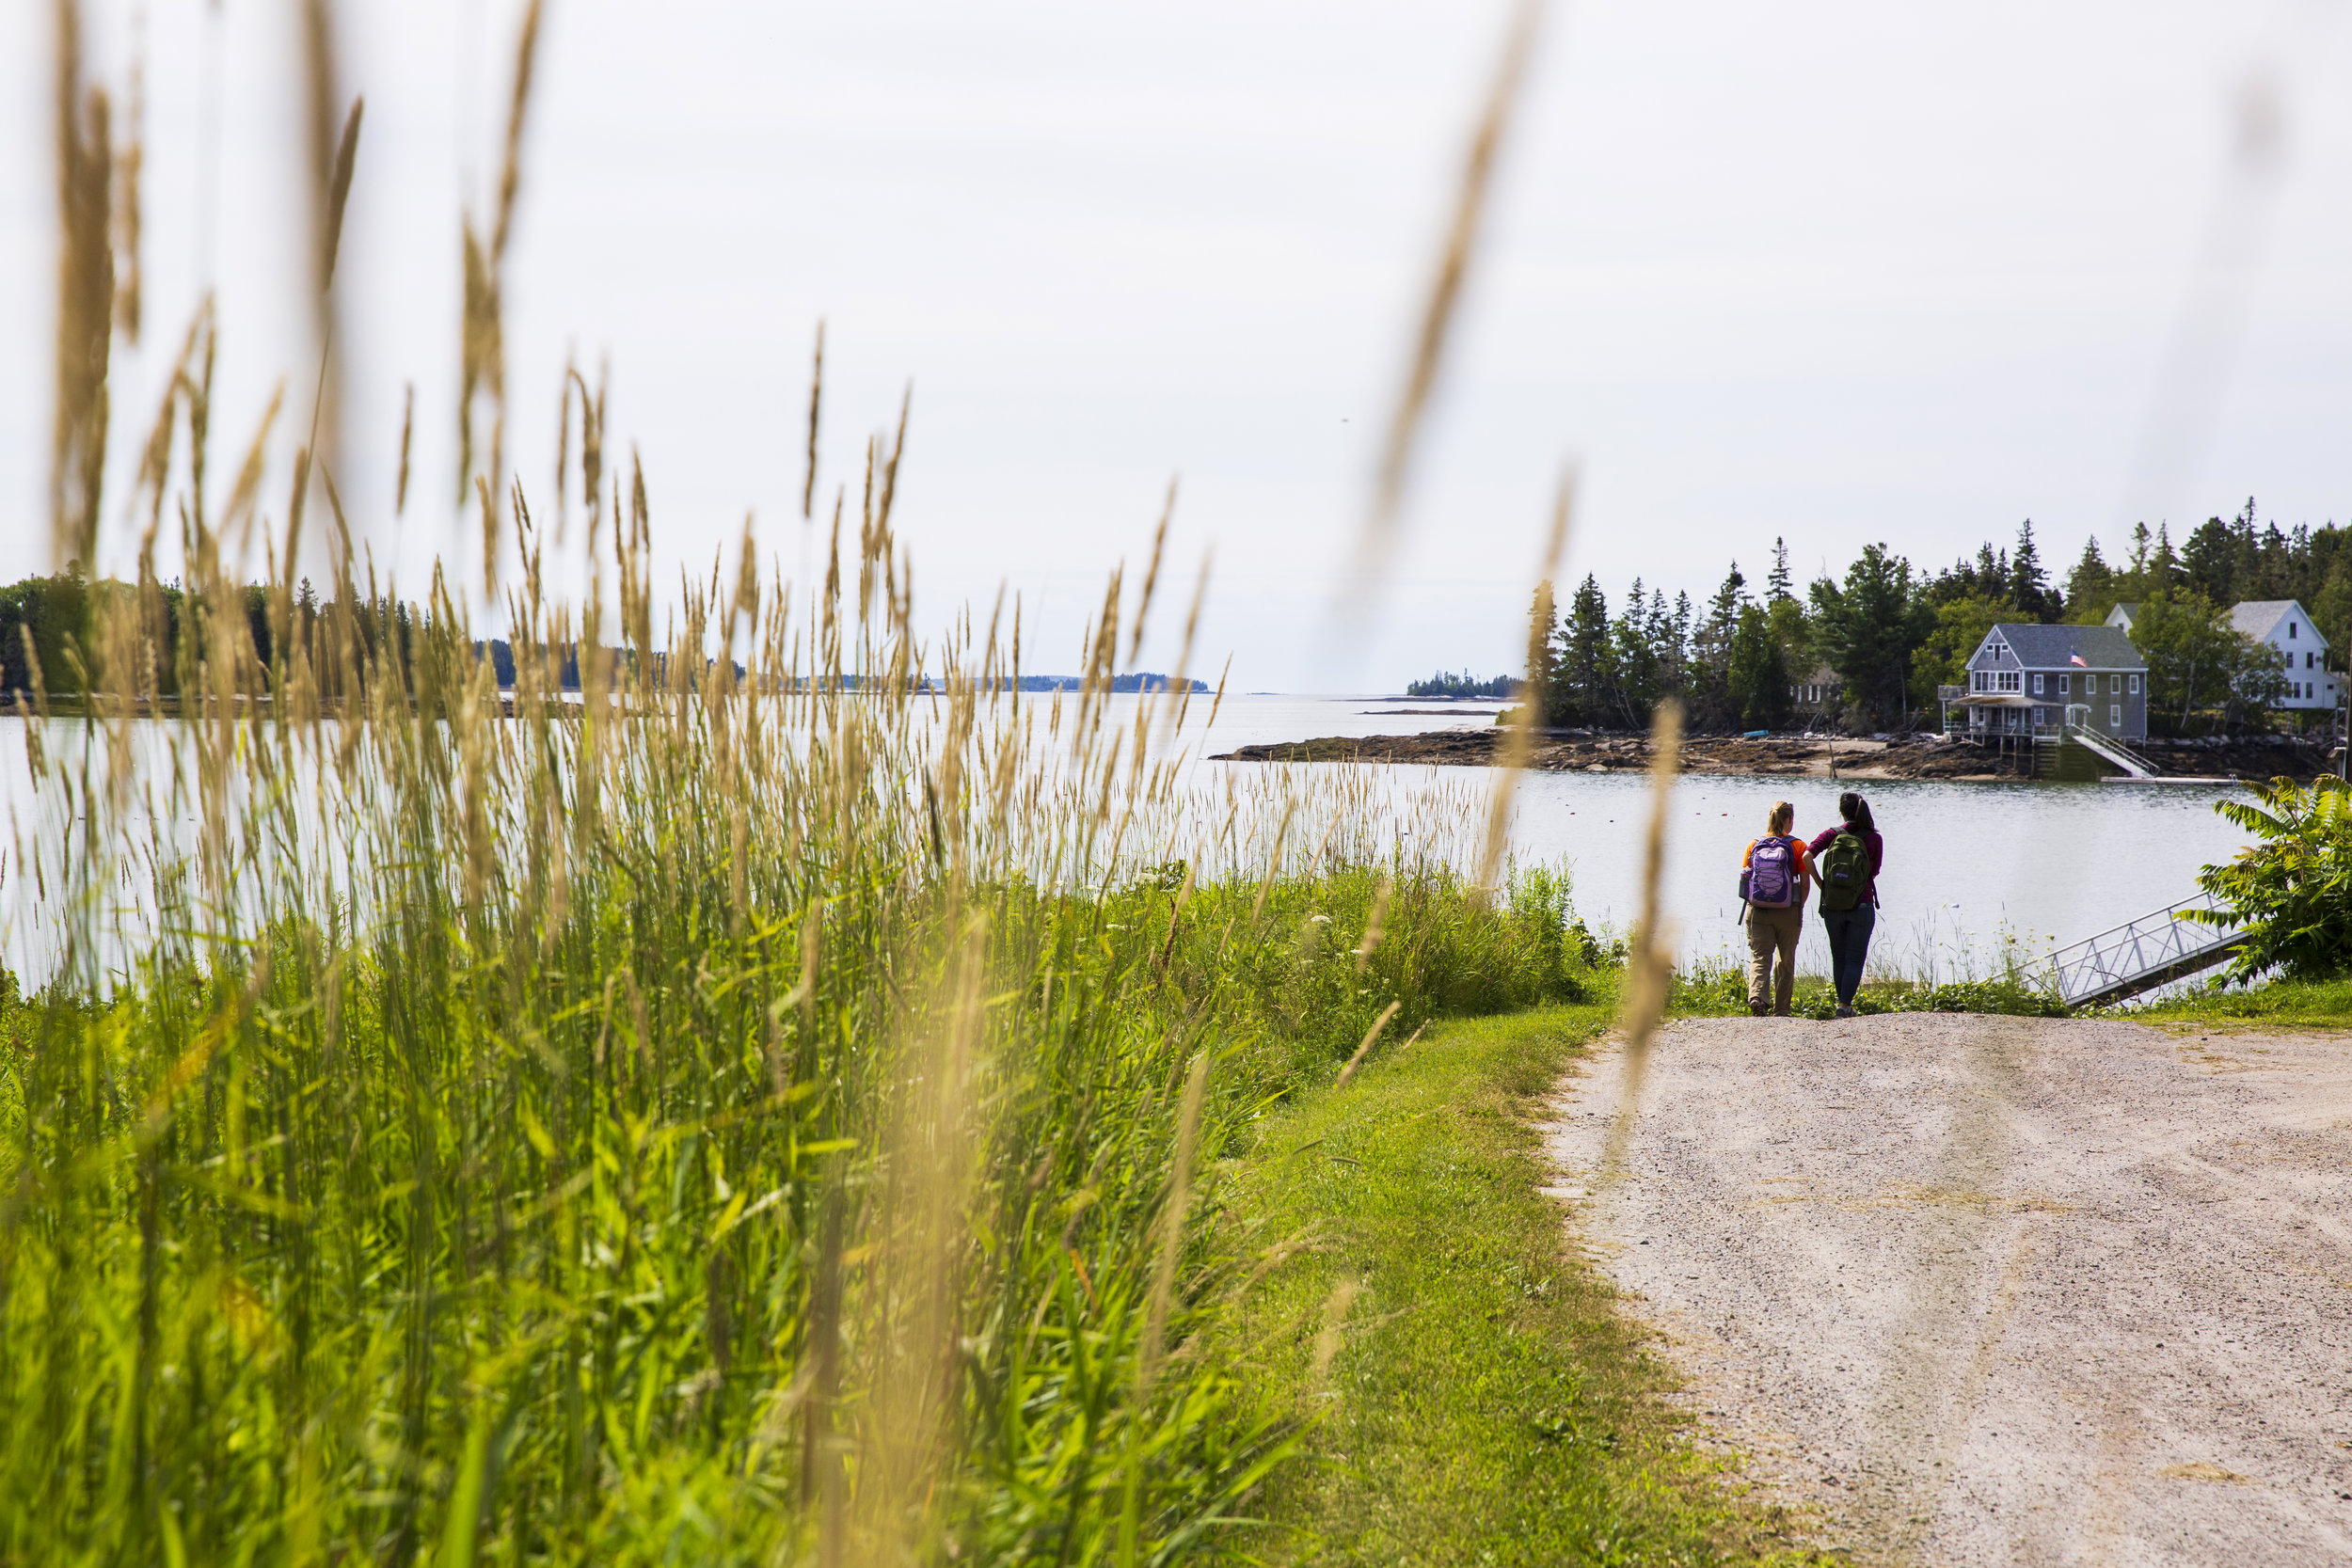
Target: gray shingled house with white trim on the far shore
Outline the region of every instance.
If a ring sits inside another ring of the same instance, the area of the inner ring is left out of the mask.
[[[2147,738],[2147,661],[2119,625],[2004,621],[1969,656],[1950,698],[1971,736],[2056,733],[2065,724],[2117,741]]]

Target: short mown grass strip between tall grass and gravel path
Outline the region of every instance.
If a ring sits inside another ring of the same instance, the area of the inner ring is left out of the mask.
[[[1609,1016],[1439,1025],[1272,1114],[1228,1173],[1265,1272],[1218,1345],[1305,1422],[1265,1483],[1268,1561],[1811,1561],[1686,1441],[1672,1368],[1541,1192],[1529,1112]]]

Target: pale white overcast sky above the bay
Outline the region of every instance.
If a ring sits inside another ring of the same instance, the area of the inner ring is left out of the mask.
[[[0,9],[0,581],[47,567],[47,9]],[[134,7],[92,12],[120,82]],[[435,550],[473,555],[452,508],[456,219],[494,172],[517,14],[343,5],[367,94],[343,491],[412,590]],[[1195,665],[1230,651],[1249,691],[1512,668],[1569,458],[1569,576],[1611,599],[1635,574],[1700,597],[1733,555],[1762,576],[1773,534],[1811,576],[1872,538],[1940,564],[2032,517],[2063,569],[2091,531],[2112,555],[2136,515],[2178,531],[2249,491],[2288,524],[2352,512],[2331,7],[1571,5],[1529,80],[1406,548],[1334,658],[1329,595],[1501,19],[1494,0],[548,0],[510,458],[546,510],[567,348],[609,360],[663,559],[708,569],[753,510],[797,569],[826,317],[823,494],[915,383],[920,614],[1009,581],[1047,623],[1030,668],[1075,668],[1101,574],[1138,574],[1181,473],[1176,597],[1216,548]],[[118,447],[207,277],[216,465],[278,376],[308,383],[294,35],[294,0],[146,0],[148,334],[118,357]],[[2249,82],[2281,115],[2274,181],[2232,174]],[[1143,663],[1171,656],[1155,637]]]

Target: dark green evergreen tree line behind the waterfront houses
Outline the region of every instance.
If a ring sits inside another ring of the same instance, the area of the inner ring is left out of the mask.
[[[1665,698],[1689,724],[1726,733],[1795,722],[1851,733],[1936,722],[1938,686],[1966,684],[1969,656],[2004,621],[2098,625],[2136,604],[2133,644],[2150,668],[2150,724],[2161,733],[2244,729],[2284,696],[2281,661],[2230,628],[2241,599],[2300,599],[2343,668],[2352,642],[2352,529],[2281,529],[2209,517],[2187,541],[2140,524],[2110,562],[2098,538],[2058,583],[2042,562],[2034,524],[2013,545],[1978,548],[1924,571],[1884,543],[1842,576],[1802,592],[1788,541],[1752,583],[1738,562],[1700,604],[1665,597],[1635,578],[1611,609],[1595,576],[1566,604],[1536,588],[1529,646],[1538,719],[1550,726],[1642,729]],[[1818,696],[1816,696],[1818,693]]]

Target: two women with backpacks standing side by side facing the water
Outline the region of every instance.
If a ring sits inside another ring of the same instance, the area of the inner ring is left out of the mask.
[[[1863,985],[1870,931],[1879,919],[1879,865],[1886,844],[1870,820],[1870,802],[1846,790],[1837,797],[1837,827],[1795,837],[1797,806],[1773,804],[1764,837],[1740,856],[1740,903],[1748,926],[1748,1011],[1788,1018],[1797,987],[1797,938],[1804,905],[1820,893],[1820,924],[1830,936],[1830,973],[1837,983],[1837,1016],[1853,1018],[1853,992]]]

